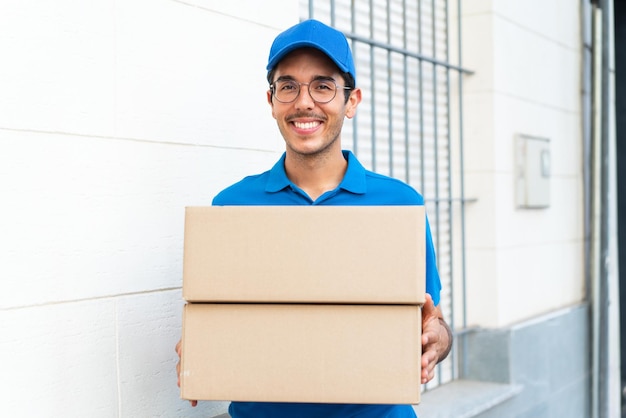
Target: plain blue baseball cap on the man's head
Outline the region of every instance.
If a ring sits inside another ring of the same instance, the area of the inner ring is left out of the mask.
[[[341,71],[349,73],[356,82],[352,51],[350,51],[346,36],[337,29],[314,19],[305,20],[290,27],[274,39],[266,67],[268,76],[269,72],[287,54],[306,47],[319,49],[328,55]]]

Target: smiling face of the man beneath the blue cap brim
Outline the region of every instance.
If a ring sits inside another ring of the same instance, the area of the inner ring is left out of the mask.
[[[320,77],[331,77],[340,87],[335,98],[328,103],[316,103],[307,85],[300,87],[300,94],[291,103],[281,103],[272,98],[271,92],[267,93],[272,116],[285,139],[288,154],[313,156],[341,150],[343,120],[355,115],[361,101],[361,91],[351,91],[346,103],[341,88],[345,85],[343,77],[330,58],[317,49],[297,49],[276,66],[272,82],[286,78],[310,83]]]

